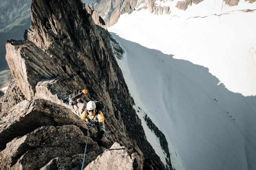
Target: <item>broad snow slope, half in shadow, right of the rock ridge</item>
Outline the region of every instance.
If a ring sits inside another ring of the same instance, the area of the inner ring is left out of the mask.
[[[135,104],[165,134],[177,170],[256,169],[255,17],[142,10],[108,28]]]

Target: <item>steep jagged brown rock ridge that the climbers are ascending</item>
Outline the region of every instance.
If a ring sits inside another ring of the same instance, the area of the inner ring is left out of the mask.
[[[0,98],[0,169],[81,169],[87,132],[85,169],[172,169],[148,143],[132,107],[116,62],[123,49],[86,9],[80,0],[32,0],[25,40],[7,41],[12,78]],[[76,89],[88,90],[85,104],[105,106],[102,145],[97,128],[79,118],[84,105],[61,102]]]

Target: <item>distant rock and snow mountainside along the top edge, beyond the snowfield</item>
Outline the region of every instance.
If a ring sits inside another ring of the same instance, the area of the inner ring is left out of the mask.
[[[182,13],[184,11],[191,11],[191,9],[192,11],[194,9],[197,9],[195,10],[195,14],[200,15],[205,11],[208,11],[210,13],[230,11],[229,7],[232,6],[234,6],[235,8],[241,8],[240,10],[247,9],[246,7],[249,7],[250,4],[252,4],[256,0],[214,0],[210,2],[204,1],[204,4],[207,3],[210,6],[212,6],[212,8],[209,9],[202,8],[202,6],[205,6],[201,3],[203,1],[204,0],[83,0],[83,2],[86,5],[90,6],[92,10],[95,10],[100,14],[101,18],[104,19],[106,25],[108,26],[114,25],[117,22],[117,19],[119,18],[120,14],[130,14],[132,11],[140,11],[142,9],[148,9],[150,13],[156,15],[162,15],[164,13],[170,14],[172,12],[177,13],[177,11],[179,11],[178,13]],[[244,2],[246,2],[245,6]],[[112,20],[114,20],[115,22],[113,22]],[[108,24],[109,21],[111,24]]]

